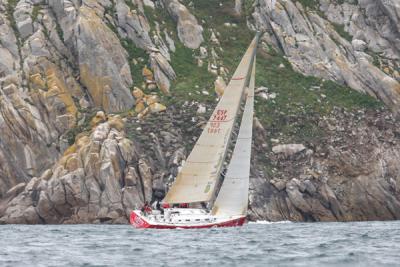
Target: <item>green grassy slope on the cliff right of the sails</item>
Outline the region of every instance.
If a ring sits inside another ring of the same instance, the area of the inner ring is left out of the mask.
[[[304,76],[277,53],[258,51],[256,85],[268,88],[276,98],[256,98],[256,115],[273,136],[286,142],[313,142],[325,133],[315,118],[334,108],[355,112],[377,109],[382,103],[332,81]]]

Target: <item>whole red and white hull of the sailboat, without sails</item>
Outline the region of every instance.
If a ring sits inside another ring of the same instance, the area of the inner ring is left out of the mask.
[[[169,215],[145,215],[140,210],[134,210],[130,215],[130,223],[136,228],[199,229],[242,226],[246,221],[245,216],[220,218],[201,209],[168,209],[165,213]]]

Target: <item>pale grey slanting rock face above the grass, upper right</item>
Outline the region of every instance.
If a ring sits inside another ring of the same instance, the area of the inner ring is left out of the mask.
[[[376,96],[398,112],[400,5],[358,2],[321,0],[313,11],[299,1],[259,0],[253,18],[255,26],[266,31],[263,39],[281,50],[295,70]],[[374,63],[377,53],[385,55],[386,72]]]

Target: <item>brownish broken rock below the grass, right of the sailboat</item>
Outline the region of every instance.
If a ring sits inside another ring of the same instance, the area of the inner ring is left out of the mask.
[[[362,221],[400,219],[398,122],[389,114],[336,111],[319,119],[327,138],[291,155],[269,153],[272,176],[260,176],[255,156],[252,219]],[[332,127],[335,125],[336,127]],[[268,134],[268,132],[267,132]],[[347,138],[344,138],[347,136]],[[255,149],[260,152],[260,147]],[[274,150],[274,148],[273,148]],[[297,150],[298,151],[298,150]]]

